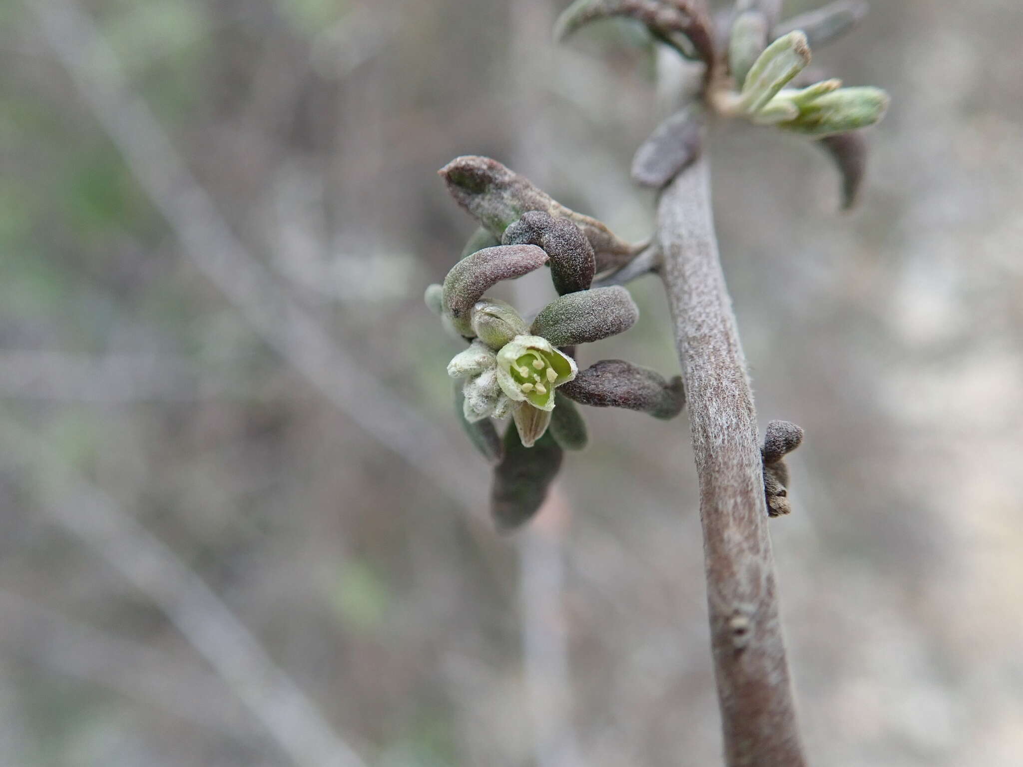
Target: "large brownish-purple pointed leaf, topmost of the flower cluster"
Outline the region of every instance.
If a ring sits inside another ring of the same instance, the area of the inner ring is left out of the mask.
[[[637,252],[602,222],[569,210],[496,160],[455,157],[438,173],[455,201],[495,237],[523,214],[543,211],[555,219],[568,219],[582,230],[593,247],[597,272],[627,262]]]

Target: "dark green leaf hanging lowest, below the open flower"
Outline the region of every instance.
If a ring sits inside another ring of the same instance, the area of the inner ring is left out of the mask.
[[[565,452],[549,435],[531,448],[523,446],[515,426],[504,433],[504,457],[494,467],[490,508],[499,530],[510,532],[533,517],[547,497]]]

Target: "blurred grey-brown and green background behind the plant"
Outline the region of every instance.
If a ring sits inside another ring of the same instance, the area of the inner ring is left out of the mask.
[[[0,764],[720,764],[687,423],[587,410],[506,538],[422,305],[492,155],[630,239],[628,24],[561,0],[0,3]],[[797,12],[812,3],[787,2]],[[860,209],[713,139],[814,765],[1023,764],[1023,7],[875,3]],[[517,294],[536,309],[542,279]],[[677,370],[656,279],[582,350]]]

